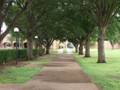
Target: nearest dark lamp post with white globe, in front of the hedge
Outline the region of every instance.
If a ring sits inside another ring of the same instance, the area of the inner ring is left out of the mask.
[[[16,65],[18,64],[18,50],[19,50],[19,29],[18,28],[14,28],[14,32],[16,34]]]

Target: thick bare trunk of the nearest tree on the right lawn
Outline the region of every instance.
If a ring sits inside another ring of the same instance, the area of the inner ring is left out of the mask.
[[[106,63],[104,51],[105,28],[99,28],[98,36],[98,63]]]

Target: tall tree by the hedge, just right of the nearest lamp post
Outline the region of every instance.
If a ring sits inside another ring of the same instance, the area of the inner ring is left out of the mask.
[[[50,2],[49,2],[50,3]],[[47,15],[53,9],[52,4],[48,5],[47,1],[32,1],[31,7],[22,15],[17,23],[20,32],[27,39],[27,57],[33,59],[33,38],[38,30],[38,24],[43,16]]]

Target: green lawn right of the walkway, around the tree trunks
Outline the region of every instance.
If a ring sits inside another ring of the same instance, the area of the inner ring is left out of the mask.
[[[97,50],[91,50],[91,58],[74,54],[76,61],[101,90],[120,90],[120,50],[106,50],[105,64],[97,64]]]

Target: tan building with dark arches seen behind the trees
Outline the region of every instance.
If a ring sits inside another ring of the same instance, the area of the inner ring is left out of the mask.
[[[15,41],[15,39],[11,38],[10,34],[8,34],[0,43],[0,49],[13,49],[15,47],[16,47],[16,41]],[[27,41],[25,40],[23,42],[20,42],[19,47],[27,48]],[[59,48],[67,48],[67,47],[73,48],[73,45],[68,41],[61,43],[59,40],[54,41],[53,44],[51,45],[52,50],[57,50]],[[98,47],[97,42],[91,46],[91,48],[96,48],[96,49],[97,49],[97,47]],[[105,48],[106,49],[112,48],[109,41],[105,41]],[[115,44],[114,48],[119,49],[120,45]]]

